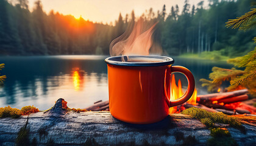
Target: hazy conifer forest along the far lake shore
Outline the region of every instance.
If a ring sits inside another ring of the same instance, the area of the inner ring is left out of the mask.
[[[205,1],[206,2],[206,1]],[[254,49],[255,30],[248,32],[227,29],[228,19],[249,11],[250,0],[208,0],[182,8],[178,5],[166,10],[146,10],[140,18],[132,11],[120,14],[112,24],[99,24],[43,11],[36,1],[30,12],[27,0],[0,0],[0,55],[64,55],[109,54],[110,42],[138,19],[158,21],[154,33],[156,41],[169,55],[219,50],[230,57],[244,55]]]

